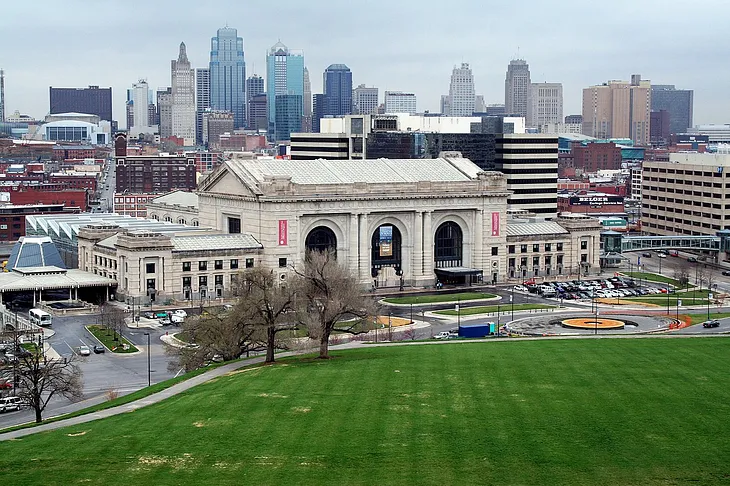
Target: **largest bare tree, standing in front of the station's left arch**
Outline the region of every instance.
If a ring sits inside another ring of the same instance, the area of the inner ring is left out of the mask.
[[[307,252],[303,268],[296,273],[299,276],[298,318],[309,330],[310,337],[319,339],[319,357],[327,359],[333,331],[364,332],[361,319],[372,315],[372,299],[360,293],[357,279],[337,263],[332,251]],[[346,321],[348,318],[351,320]]]

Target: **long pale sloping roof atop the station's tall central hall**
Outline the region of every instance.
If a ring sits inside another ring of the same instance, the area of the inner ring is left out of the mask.
[[[470,181],[481,169],[469,159],[243,160],[226,164],[242,180],[290,177],[294,184]]]

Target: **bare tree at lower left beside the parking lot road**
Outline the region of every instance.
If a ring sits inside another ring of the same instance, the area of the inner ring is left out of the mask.
[[[25,405],[35,411],[35,421],[43,421],[43,411],[51,398],[60,395],[70,400],[82,395],[81,369],[76,357],[48,358],[38,349],[25,353],[15,365],[15,393]]]

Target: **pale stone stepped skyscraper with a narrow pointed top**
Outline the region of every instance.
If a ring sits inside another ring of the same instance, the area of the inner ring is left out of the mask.
[[[180,43],[177,60],[170,62],[172,76],[172,135],[195,144],[195,73],[190,67],[185,43]],[[162,121],[160,121],[162,123]]]

